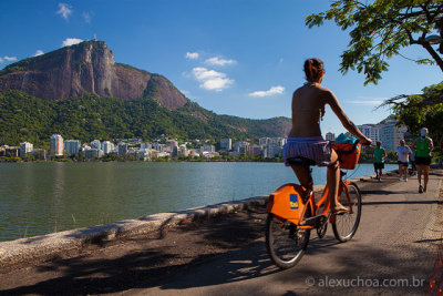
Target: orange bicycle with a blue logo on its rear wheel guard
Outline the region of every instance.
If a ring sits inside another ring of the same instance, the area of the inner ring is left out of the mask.
[[[315,165],[311,160],[305,157],[288,161],[296,165]],[[356,234],[361,217],[361,194],[356,183],[342,178],[346,172],[340,171],[338,196],[340,203],[349,208],[346,214],[331,215],[330,202],[327,198],[328,187],[324,187],[318,202],[313,192],[293,183],[285,184],[269,195],[266,208],[266,246],[278,267],[287,269],[295,266],[306,252],[311,231],[316,229],[318,237],[322,238],[328,228],[328,221],[340,242],[348,242]]]

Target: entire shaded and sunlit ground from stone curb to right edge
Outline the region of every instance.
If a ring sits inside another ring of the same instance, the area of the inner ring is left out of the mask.
[[[0,274],[0,294],[423,294],[443,237],[442,176],[432,172],[425,194],[413,177],[361,182],[353,239],[338,244],[331,228],[323,239],[312,234],[308,254],[285,272],[268,258],[256,208]]]

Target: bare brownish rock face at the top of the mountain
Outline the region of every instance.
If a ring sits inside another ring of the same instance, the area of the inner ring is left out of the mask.
[[[164,76],[114,61],[103,41],[85,41],[8,65],[0,91],[20,90],[44,100],[93,93],[123,100],[151,95],[175,110],[188,100]]]

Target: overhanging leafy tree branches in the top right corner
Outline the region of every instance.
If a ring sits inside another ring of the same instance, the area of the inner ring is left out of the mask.
[[[442,13],[441,0],[336,0],[328,11],[308,16],[306,24],[311,29],[333,20],[342,30],[351,29],[340,71],[357,69],[365,74],[364,84],[377,84],[381,73],[388,71],[387,59],[401,55],[400,49],[412,44],[423,47],[432,57],[414,62],[437,63],[443,71],[443,44],[439,54],[430,41],[435,33],[443,39]]]

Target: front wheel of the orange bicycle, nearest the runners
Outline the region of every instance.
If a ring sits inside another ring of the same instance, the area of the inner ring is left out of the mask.
[[[361,194],[359,186],[351,182],[348,184],[348,191],[352,206],[352,214],[346,213],[342,215],[336,215],[336,221],[332,223],[333,235],[341,243],[346,243],[354,236],[359,228],[361,217]],[[340,203],[346,207],[349,206],[344,190],[341,193]]]

